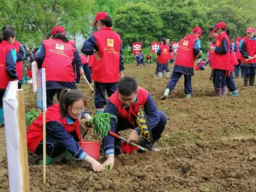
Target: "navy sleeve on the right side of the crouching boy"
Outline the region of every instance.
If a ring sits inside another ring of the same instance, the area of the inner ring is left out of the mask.
[[[156,104],[155,104],[154,100],[152,99],[150,93],[149,93],[146,103],[144,105],[144,111],[145,111],[146,117],[148,119],[150,128],[154,129],[154,127],[156,127],[156,125],[159,123],[160,117],[159,117],[159,113],[158,113]]]

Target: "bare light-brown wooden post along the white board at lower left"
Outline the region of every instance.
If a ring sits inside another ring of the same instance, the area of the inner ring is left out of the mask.
[[[18,99],[18,132],[20,135],[19,146],[20,146],[20,156],[21,156],[21,171],[22,171],[22,191],[29,192],[29,174],[28,174],[28,147],[26,139],[26,115],[25,115],[25,105],[24,105],[24,94],[23,90],[17,91]]]

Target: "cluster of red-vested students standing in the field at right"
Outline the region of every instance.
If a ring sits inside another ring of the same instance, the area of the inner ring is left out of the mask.
[[[208,36],[213,40],[209,46],[206,60],[201,60],[201,34],[200,27],[193,28],[193,31],[186,35],[180,42],[177,50],[174,70],[171,74],[162,100],[166,100],[169,92],[174,90],[177,81],[184,75],[184,92],[186,97],[191,98],[192,81],[194,73],[194,63],[197,70],[204,70],[207,65],[212,68],[211,79],[215,88],[215,95],[228,95],[228,90],[232,95],[237,96],[238,90],[233,78],[241,76],[244,78],[245,86],[254,86],[256,67],[256,36],[255,28],[248,28],[247,36],[237,38],[235,43],[230,43],[229,29],[226,23],[220,22],[208,28]],[[161,47],[161,50],[164,48]]]

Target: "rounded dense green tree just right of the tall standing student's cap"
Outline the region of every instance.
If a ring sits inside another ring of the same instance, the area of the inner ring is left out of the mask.
[[[114,29],[121,35],[124,46],[140,41],[150,45],[161,35],[163,22],[157,9],[147,4],[126,4],[117,9]]]

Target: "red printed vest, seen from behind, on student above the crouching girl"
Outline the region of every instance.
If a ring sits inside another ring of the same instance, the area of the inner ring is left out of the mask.
[[[43,41],[46,57],[42,68],[46,68],[46,81],[75,82],[72,62],[75,48],[60,39]]]

